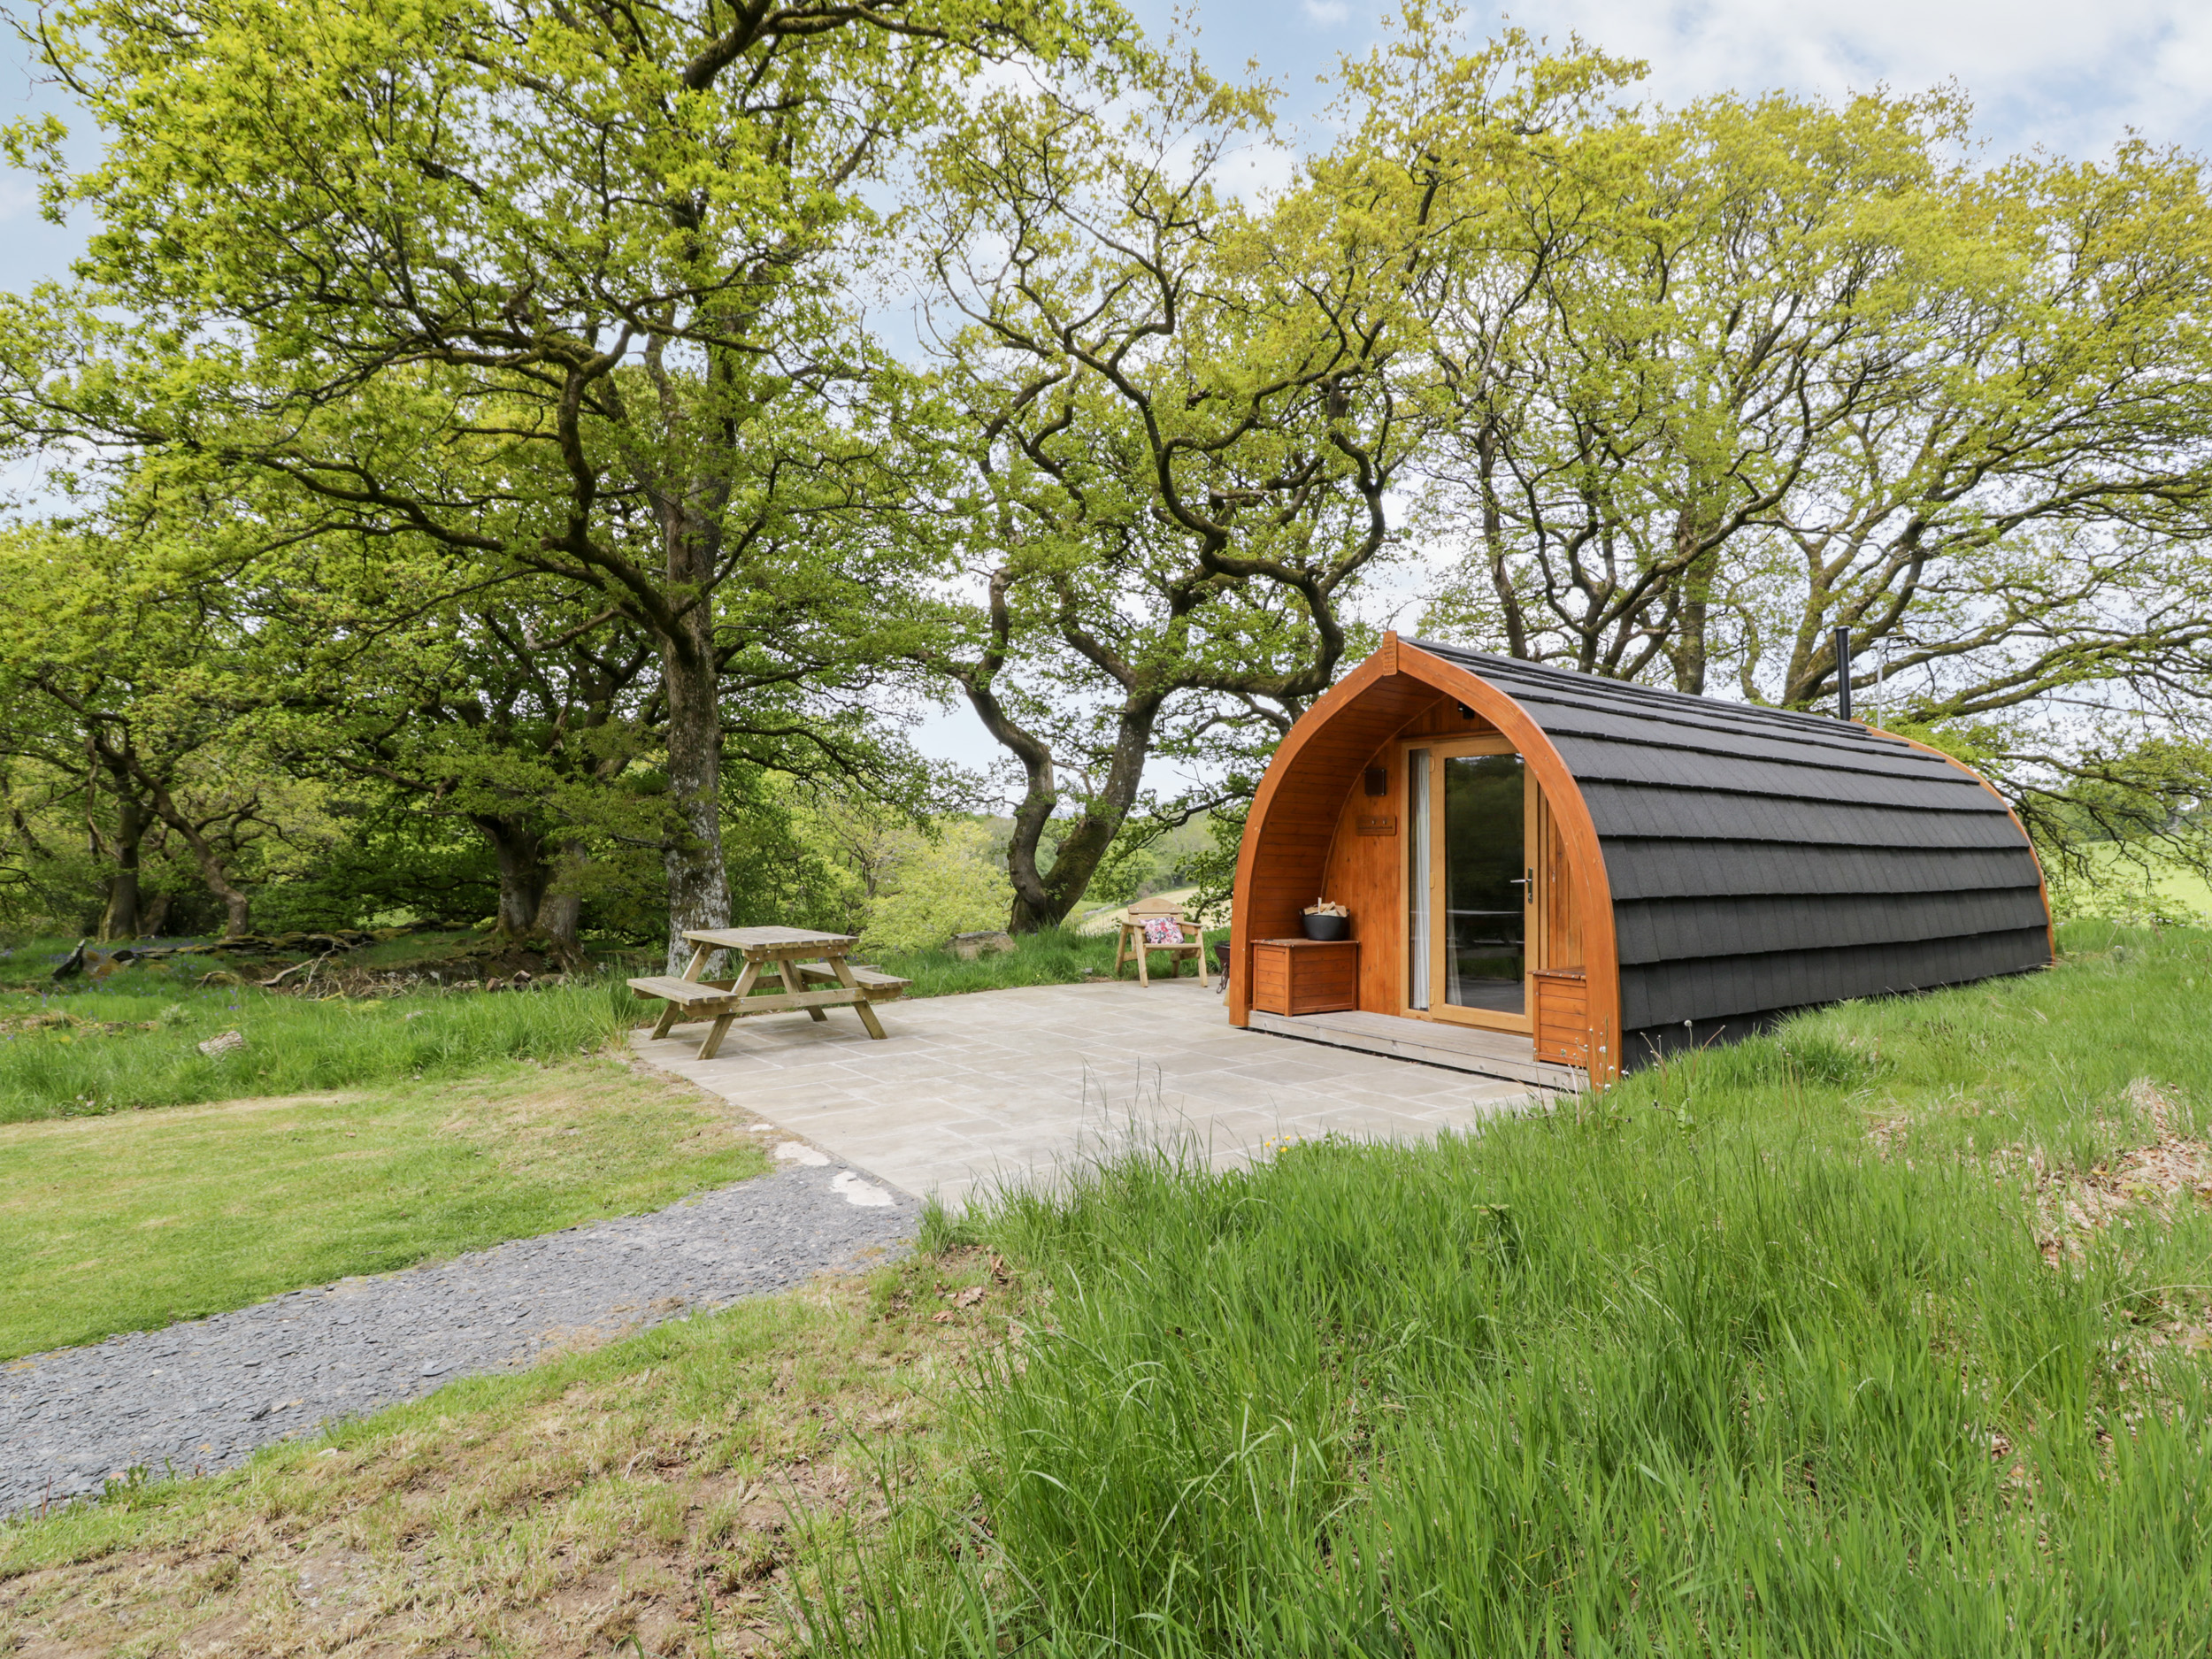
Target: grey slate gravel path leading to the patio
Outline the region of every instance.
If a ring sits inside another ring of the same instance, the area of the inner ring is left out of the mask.
[[[787,1290],[914,1237],[907,1194],[796,1141],[776,1152],[787,1168],[655,1214],[0,1365],[0,1515],[133,1467],[228,1469],[332,1418]]]

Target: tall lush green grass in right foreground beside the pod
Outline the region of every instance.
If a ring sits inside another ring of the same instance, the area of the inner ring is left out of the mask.
[[[1436,1148],[1002,1203],[1051,1298],[818,1648],[2205,1652],[2212,1219],[2048,1206],[2157,1137],[2135,1079],[2201,1133],[2212,936],[2070,940]]]

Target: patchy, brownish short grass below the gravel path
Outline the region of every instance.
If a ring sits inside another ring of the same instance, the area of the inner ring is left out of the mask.
[[[0,1652],[783,1650],[816,1562],[942,1475],[938,1400],[1018,1296],[993,1267],[821,1281],[0,1524]]]

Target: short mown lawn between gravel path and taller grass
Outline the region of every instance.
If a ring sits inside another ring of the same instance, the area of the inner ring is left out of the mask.
[[[611,1060],[0,1128],[0,1358],[635,1214],[768,1168]]]

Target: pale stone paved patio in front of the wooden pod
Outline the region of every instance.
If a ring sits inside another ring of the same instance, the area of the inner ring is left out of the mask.
[[[1237,1031],[1197,980],[1042,984],[880,1006],[869,1042],[834,1011],[703,1024],[637,1053],[916,1197],[1051,1181],[1133,1144],[1203,1146],[1217,1168],[1285,1139],[1425,1139],[1528,1097],[1524,1084]]]

